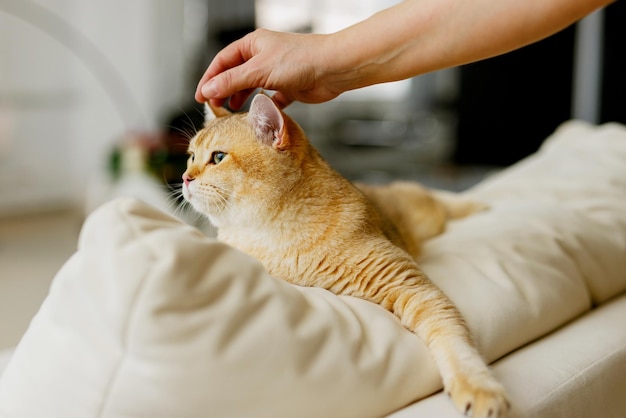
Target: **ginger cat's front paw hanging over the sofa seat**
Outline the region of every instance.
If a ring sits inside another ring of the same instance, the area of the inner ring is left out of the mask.
[[[511,409],[504,388],[489,375],[457,376],[446,393],[461,412],[473,418],[502,418]]]

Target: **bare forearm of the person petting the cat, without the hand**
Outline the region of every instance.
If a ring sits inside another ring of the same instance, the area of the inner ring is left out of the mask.
[[[405,79],[545,38],[611,0],[406,0],[329,35],[341,90]]]

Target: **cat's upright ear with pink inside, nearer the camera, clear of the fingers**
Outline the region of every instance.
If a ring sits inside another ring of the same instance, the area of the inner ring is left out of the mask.
[[[265,94],[257,94],[252,99],[248,121],[254,127],[262,142],[282,150],[287,146],[285,117],[276,103]]]

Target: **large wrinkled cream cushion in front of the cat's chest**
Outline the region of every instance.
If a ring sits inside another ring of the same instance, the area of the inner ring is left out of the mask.
[[[298,289],[117,200],[54,279],[0,381],[0,416],[367,417],[437,385],[419,339],[378,306]]]

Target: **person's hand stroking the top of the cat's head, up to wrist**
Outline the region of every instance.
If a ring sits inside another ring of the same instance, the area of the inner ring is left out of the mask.
[[[198,83],[195,98],[239,109],[256,88],[274,90],[284,108],[298,100],[321,103],[343,91],[325,59],[332,56],[327,35],[257,29],[220,51]]]

